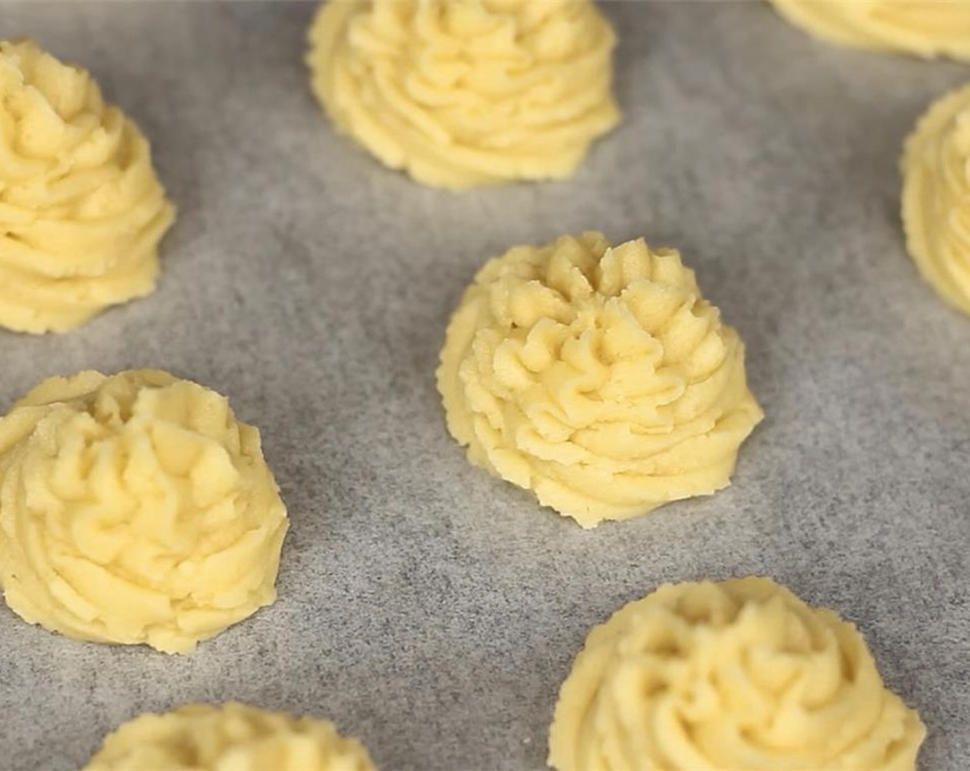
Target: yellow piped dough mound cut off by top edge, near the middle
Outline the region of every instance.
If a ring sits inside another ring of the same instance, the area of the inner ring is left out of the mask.
[[[332,0],[309,40],[339,131],[427,184],[569,177],[620,119],[590,0]]]

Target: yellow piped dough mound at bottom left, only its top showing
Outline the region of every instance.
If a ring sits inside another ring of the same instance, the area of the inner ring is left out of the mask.
[[[110,734],[82,771],[373,771],[373,764],[329,721],[229,702],[141,715]]]

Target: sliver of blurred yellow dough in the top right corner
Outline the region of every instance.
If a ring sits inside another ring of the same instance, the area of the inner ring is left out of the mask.
[[[771,0],[795,26],[832,43],[970,59],[970,0]]]

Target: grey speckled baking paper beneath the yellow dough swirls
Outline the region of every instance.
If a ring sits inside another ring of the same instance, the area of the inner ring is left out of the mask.
[[[574,180],[453,195],[337,137],[313,6],[0,5],[144,127],[179,208],[149,299],[0,332],[0,402],[85,368],[171,369],[256,423],[292,529],[279,601],[189,657],[0,608],[0,768],[72,769],[137,713],[329,716],[384,769],[538,769],[590,626],[664,581],[766,573],[836,608],[970,766],[970,318],[906,257],[897,157],[970,67],[816,43],[760,3],[614,3],[626,119]],[[434,369],[476,268],[603,230],[675,245],[748,343],[767,418],[734,486],[584,532],[467,465]]]

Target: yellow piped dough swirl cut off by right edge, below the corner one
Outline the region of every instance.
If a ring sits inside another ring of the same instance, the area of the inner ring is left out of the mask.
[[[922,116],[902,173],[910,254],[944,300],[970,313],[970,85]]]

